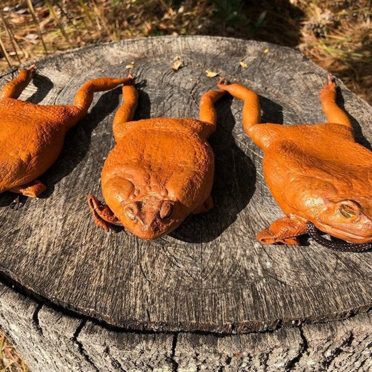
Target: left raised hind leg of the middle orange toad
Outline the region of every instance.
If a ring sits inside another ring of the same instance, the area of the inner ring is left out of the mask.
[[[138,91],[133,84],[123,85],[123,105],[115,114],[113,123],[113,132],[117,141],[123,135],[125,123],[133,119],[135,109],[137,108]]]

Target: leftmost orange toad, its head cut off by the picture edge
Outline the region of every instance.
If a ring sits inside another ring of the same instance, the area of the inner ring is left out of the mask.
[[[17,99],[33,72],[34,66],[21,70],[0,92],[0,192],[37,197],[46,189],[37,178],[58,158],[66,131],[86,115],[93,93],[130,78],[90,80],[78,90],[73,105],[42,106]]]

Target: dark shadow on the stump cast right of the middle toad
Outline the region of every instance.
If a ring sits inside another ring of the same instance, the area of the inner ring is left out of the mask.
[[[231,97],[217,103],[217,129],[209,139],[215,155],[212,188],[214,208],[207,213],[190,215],[170,235],[188,243],[207,243],[218,238],[237,219],[255,189],[255,167],[236,145],[232,130],[236,123],[231,113]],[[223,125],[221,125],[223,124]]]

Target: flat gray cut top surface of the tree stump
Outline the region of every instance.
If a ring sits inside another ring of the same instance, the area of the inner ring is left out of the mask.
[[[184,67],[174,72],[176,56]],[[262,122],[325,121],[318,93],[326,71],[291,49],[227,38],[124,40],[55,55],[37,62],[20,98],[70,104],[83,82],[124,76],[131,62],[139,88],[135,119],[197,118],[201,95],[218,79],[206,76],[209,69],[254,89]],[[3,74],[0,85],[15,73]],[[337,83],[357,140],[371,148],[372,108]],[[283,214],[262,177],[262,153],[243,132],[242,102],[230,97],[217,105],[210,138],[213,210],[152,242],[95,226],[86,196],[102,199],[100,173],[114,145],[121,100],[120,88],[95,95],[90,113],[68,132],[61,156],[40,177],[48,186],[40,199],[22,199],[14,211],[8,207],[14,195],[0,195],[0,272],[66,309],[138,330],[262,331],[372,306],[371,252],[335,252],[311,241],[301,247],[255,242],[255,234]]]

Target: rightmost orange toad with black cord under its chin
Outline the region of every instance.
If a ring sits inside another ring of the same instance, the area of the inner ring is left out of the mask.
[[[218,87],[244,101],[244,130],[263,150],[267,186],[286,214],[256,239],[298,245],[310,221],[336,238],[372,242],[372,152],[355,142],[331,76],[319,94],[324,124],[259,124],[256,93],[224,79]]]

